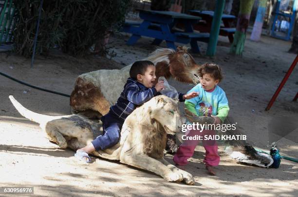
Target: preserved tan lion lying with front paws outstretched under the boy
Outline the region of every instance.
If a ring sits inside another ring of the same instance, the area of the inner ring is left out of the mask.
[[[100,124],[79,115],[46,116],[23,107],[13,96],[11,102],[25,118],[40,124],[41,129],[59,147],[73,150],[86,146],[100,135]],[[199,121],[205,123],[208,117]],[[177,101],[166,96],[151,98],[126,118],[118,144],[92,155],[120,160],[137,168],[151,171],[167,181],[194,184],[190,173],[169,164],[163,157],[167,134],[175,134],[182,125]]]

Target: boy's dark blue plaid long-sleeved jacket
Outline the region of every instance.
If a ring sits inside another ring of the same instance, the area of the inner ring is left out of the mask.
[[[110,108],[109,113],[124,121],[137,106],[157,95],[160,93],[156,91],[155,87],[147,88],[142,83],[129,78],[124,85],[123,92],[116,104]],[[183,95],[179,93],[179,101],[181,102],[184,101]]]

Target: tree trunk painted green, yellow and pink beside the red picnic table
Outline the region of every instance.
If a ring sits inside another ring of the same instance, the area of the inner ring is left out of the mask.
[[[241,0],[240,12],[238,15],[236,32],[234,35],[234,41],[230,49],[230,53],[236,55],[242,55],[244,49],[244,43],[246,38],[246,30],[249,24],[250,12],[255,0]]]

